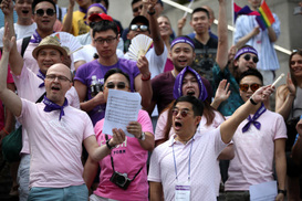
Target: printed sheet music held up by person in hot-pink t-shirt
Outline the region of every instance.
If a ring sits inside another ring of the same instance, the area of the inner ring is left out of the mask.
[[[113,128],[122,128],[126,136],[134,137],[127,133],[129,121],[137,121],[142,97],[138,93],[110,89],[106,104],[103,134],[113,135]]]

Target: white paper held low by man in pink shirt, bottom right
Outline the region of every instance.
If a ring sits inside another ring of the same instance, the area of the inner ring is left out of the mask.
[[[274,201],[277,194],[277,181],[250,186],[251,201]]]

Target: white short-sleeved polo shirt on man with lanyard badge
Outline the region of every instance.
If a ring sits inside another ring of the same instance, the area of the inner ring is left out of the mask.
[[[217,183],[214,182],[217,172],[214,167],[226,146],[221,140],[220,127],[210,131],[198,130],[186,145],[171,136],[168,141],[154,149],[148,181],[162,182],[165,200],[174,200],[177,183],[175,167],[178,182],[187,182],[190,158],[190,200],[217,200]]]

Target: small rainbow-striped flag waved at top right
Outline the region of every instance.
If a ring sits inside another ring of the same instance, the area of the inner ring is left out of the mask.
[[[274,22],[274,18],[265,1],[263,1],[261,7],[259,8],[259,13],[260,15],[256,18],[259,27],[262,30],[271,27],[271,24]]]

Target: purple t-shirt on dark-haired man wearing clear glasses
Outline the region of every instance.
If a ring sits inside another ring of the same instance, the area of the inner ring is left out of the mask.
[[[101,82],[101,84],[104,84],[104,76],[106,72],[111,68],[121,68],[123,72],[127,73],[131,78],[131,89],[134,91],[134,78],[139,74],[139,70],[136,65],[136,62],[119,59],[116,64],[111,66],[104,66],[100,64],[97,60],[94,60],[80,66],[74,77],[74,80],[80,81],[81,83],[87,86],[87,94],[85,99],[92,99],[90,87],[92,83],[92,76],[96,75],[96,80]],[[105,108],[106,104],[103,104],[93,108],[93,110],[88,112],[93,125],[95,125],[98,120],[104,118]]]

